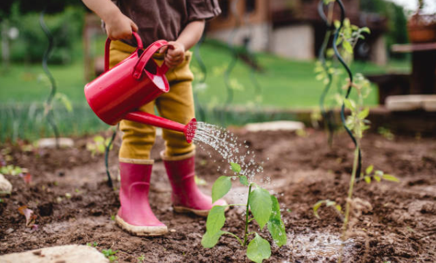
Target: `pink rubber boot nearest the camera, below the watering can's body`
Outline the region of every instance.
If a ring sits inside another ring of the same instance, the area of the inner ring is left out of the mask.
[[[153,160],[120,158],[120,203],[115,221],[136,236],[161,236],[168,232],[149,204]]]

